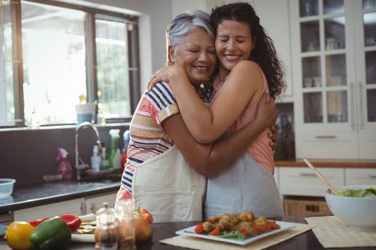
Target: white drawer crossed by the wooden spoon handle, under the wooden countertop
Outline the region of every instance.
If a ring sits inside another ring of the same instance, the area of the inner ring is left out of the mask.
[[[345,169],[317,167],[318,172],[334,187],[345,185]],[[309,167],[279,167],[279,192],[281,195],[324,197],[327,186]]]

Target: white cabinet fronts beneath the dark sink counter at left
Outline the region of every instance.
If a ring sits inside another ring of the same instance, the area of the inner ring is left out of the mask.
[[[43,206],[36,206],[34,208],[15,210],[13,212],[13,218],[15,221],[28,222],[32,219],[54,217],[63,214],[74,214],[77,216],[89,213],[95,214],[98,209],[103,207],[103,202],[108,202],[109,206],[113,208],[115,206],[115,201],[116,192],[111,192],[91,197],[50,203]]]

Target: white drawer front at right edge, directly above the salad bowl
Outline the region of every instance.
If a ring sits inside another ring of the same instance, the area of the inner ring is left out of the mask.
[[[346,185],[376,185],[376,169],[345,168]]]

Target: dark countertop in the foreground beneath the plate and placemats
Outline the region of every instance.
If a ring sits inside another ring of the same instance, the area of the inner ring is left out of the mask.
[[[282,217],[282,218],[270,218],[278,219],[283,222],[295,222],[306,224],[304,217]],[[175,231],[178,231],[189,226],[194,226],[199,222],[169,222],[169,223],[153,223],[152,238],[146,242],[136,244],[137,250],[182,250],[187,249],[184,247],[174,247],[168,244],[162,244],[159,240],[164,240],[176,236]],[[0,249],[8,250],[8,244],[6,240],[1,240]],[[70,243],[66,249],[81,249],[88,250],[94,249],[94,243]],[[244,249],[239,247],[239,249]],[[285,240],[279,244],[276,244],[267,249],[270,250],[324,250],[322,244],[318,241],[313,231],[306,231],[300,235],[295,236],[289,240]],[[370,250],[375,249],[375,247],[349,247],[349,248],[336,248],[336,250]]]

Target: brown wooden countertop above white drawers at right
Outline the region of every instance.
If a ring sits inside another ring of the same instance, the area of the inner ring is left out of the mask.
[[[331,160],[331,159],[307,159],[315,167],[361,167],[376,168],[376,160]],[[276,167],[307,167],[302,159],[276,160]]]

